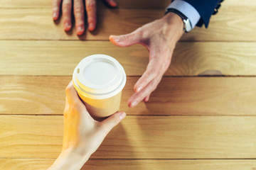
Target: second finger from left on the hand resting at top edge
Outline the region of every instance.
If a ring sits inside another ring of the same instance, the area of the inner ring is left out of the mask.
[[[64,30],[68,31],[71,29],[71,0],[63,0],[63,18],[64,18]]]

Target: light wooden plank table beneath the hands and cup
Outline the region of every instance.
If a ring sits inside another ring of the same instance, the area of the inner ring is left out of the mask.
[[[149,103],[128,108],[148,52],[119,48],[163,16],[169,0],[99,1],[97,30],[78,38],[51,18],[52,0],[0,0],[0,169],[47,169],[61,151],[65,86],[87,55],[115,57],[127,72],[128,116],[82,169],[256,169],[256,1],[224,1],[208,29],[178,42]]]

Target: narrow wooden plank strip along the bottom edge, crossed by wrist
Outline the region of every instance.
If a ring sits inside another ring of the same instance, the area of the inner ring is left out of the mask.
[[[1,169],[45,170],[54,159],[0,159]],[[90,159],[81,170],[255,170],[255,160]]]

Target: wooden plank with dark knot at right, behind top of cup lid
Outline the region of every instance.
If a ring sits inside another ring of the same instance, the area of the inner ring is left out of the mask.
[[[166,76],[256,75],[255,42],[178,42]],[[116,58],[128,76],[141,76],[149,60],[142,45],[120,48],[98,41],[0,41],[0,74],[72,75],[88,55]]]

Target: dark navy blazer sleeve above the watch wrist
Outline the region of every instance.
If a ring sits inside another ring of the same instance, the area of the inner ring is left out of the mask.
[[[223,0],[183,0],[191,4],[198,13],[200,14],[201,18],[196,24],[196,26],[203,26],[203,24],[208,27],[210,16],[218,12],[218,8],[220,8],[220,3]]]

